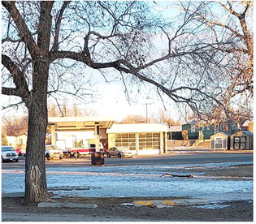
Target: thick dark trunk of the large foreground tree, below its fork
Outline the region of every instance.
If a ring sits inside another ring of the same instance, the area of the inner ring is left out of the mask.
[[[28,99],[28,141],[25,166],[24,203],[49,201],[46,185],[45,140],[47,116],[47,79],[49,64],[36,62],[33,72],[33,91]]]

